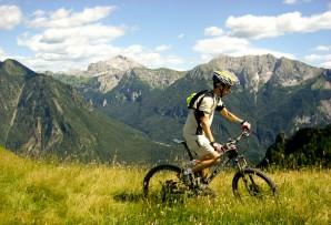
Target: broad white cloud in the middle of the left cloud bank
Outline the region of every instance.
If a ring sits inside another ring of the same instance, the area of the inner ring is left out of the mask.
[[[68,54],[72,59],[89,58],[92,57],[89,53],[94,52],[91,49],[99,49],[99,45],[107,44],[123,34],[121,28],[102,24],[53,28],[34,35],[23,34],[18,38],[18,44],[26,45],[37,53]]]

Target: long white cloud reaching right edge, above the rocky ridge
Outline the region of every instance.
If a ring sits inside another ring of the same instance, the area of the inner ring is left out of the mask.
[[[231,34],[239,38],[263,39],[285,33],[305,33],[331,29],[331,11],[311,17],[302,17],[300,12],[290,12],[277,17],[257,17],[247,14],[229,17],[225,25]]]

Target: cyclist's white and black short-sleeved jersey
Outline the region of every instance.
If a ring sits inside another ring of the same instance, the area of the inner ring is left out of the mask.
[[[199,109],[197,109],[197,104],[198,102],[202,99]],[[215,94],[213,94],[212,92],[210,92],[209,94],[202,94],[201,96],[198,98],[198,100],[195,101],[195,103],[193,104],[193,108],[197,109],[198,111],[200,111],[200,113],[203,113],[204,115],[209,115],[209,122],[211,125],[212,120],[213,120],[213,114],[214,111],[218,109],[219,111],[221,109],[223,109],[223,102],[221,100],[221,98],[217,96]],[[202,133],[200,133],[200,131],[198,131],[200,124],[198,124],[197,121],[197,110],[194,109],[190,109],[189,110],[189,114],[188,114],[188,119],[185,122],[185,125],[183,127],[183,135],[188,136],[188,135],[198,135],[198,134],[204,134],[203,131],[201,131]],[[201,126],[200,126],[201,127]]]

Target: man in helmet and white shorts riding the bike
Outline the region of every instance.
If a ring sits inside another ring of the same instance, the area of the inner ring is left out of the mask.
[[[187,168],[184,175],[192,176],[215,164],[223,153],[222,145],[217,143],[211,124],[214,111],[220,112],[227,120],[238,123],[242,130],[250,130],[251,124],[231,113],[223,104],[221,98],[230,93],[231,86],[238,83],[237,76],[230,71],[214,71],[212,73],[213,90],[198,96],[191,109],[189,109],[187,122],[183,127],[183,137],[188,147],[198,156],[198,163]]]

